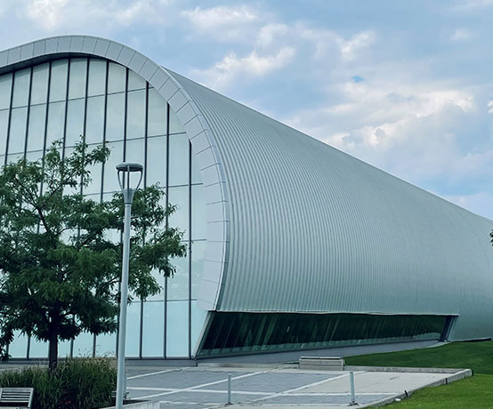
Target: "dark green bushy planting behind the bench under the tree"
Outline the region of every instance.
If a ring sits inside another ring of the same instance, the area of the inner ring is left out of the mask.
[[[94,409],[113,405],[117,369],[112,359],[70,359],[53,373],[43,366],[0,373],[0,387],[34,388],[33,409]]]

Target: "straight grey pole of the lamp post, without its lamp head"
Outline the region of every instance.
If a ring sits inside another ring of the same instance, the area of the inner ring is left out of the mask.
[[[124,192],[124,196],[125,196]],[[130,196],[130,195],[129,195]],[[133,196],[133,195],[132,195]],[[132,197],[133,198],[133,197]],[[128,298],[128,260],[130,255],[130,218],[132,214],[132,198],[125,197],[124,248],[122,260],[122,284],[120,286],[120,322],[118,330],[117,355],[117,401],[116,408],[123,408],[125,393],[125,338],[126,338],[126,304]]]

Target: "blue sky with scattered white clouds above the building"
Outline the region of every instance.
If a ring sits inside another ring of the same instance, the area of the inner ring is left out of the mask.
[[[493,0],[1,0],[0,49],[85,34],[493,219]]]

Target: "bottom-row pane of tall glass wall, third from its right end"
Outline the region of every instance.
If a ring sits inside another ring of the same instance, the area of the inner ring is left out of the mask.
[[[165,342],[165,302],[144,302],[142,356],[163,357]]]

